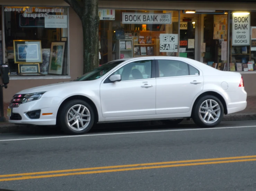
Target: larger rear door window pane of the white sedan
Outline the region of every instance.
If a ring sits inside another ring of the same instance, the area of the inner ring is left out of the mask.
[[[188,76],[188,64],[178,60],[157,60],[159,77]]]

